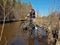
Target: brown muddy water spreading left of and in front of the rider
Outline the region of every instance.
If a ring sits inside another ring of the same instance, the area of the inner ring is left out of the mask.
[[[46,45],[44,38],[38,40],[37,38],[29,37],[29,31],[23,32],[20,29],[21,22],[7,23],[4,27],[3,37],[0,45]],[[1,32],[2,24],[0,24]],[[41,43],[40,43],[41,42]]]

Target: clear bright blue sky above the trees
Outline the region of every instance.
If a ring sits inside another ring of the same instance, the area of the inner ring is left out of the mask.
[[[54,11],[60,11],[60,0],[21,0],[21,2],[31,2],[33,9],[40,16],[47,16]]]

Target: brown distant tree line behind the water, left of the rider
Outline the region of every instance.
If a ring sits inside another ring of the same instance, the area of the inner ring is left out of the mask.
[[[24,3],[20,0],[0,0],[0,20],[24,18],[32,8],[31,3]]]

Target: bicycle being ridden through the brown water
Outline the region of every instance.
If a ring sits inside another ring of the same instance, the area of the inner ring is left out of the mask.
[[[33,21],[31,19],[29,22],[27,22],[27,20],[23,21],[21,29],[23,32],[29,31],[29,37],[34,38],[35,25],[33,24]]]

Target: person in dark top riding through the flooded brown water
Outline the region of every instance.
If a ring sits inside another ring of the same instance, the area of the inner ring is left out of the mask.
[[[35,18],[36,18],[36,15],[35,15],[34,9],[31,9],[29,14],[25,17],[25,19],[28,20],[28,22],[29,22],[29,27],[31,28],[29,30],[31,36],[34,35],[34,32],[35,32],[35,25],[34,25]]]

